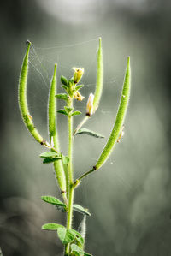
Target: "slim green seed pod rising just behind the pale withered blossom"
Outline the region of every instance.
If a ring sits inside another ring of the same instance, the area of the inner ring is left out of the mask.
[[[99,38],[99,46],[97,51],[97,83],[94,93],[93,112],[98,108],[100,98],[103,92],[103,51],[102,51],[102,38]]]

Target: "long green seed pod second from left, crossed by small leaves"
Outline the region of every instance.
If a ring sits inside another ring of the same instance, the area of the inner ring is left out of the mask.
[[[49,134],[50,134],[50,144],[56,148],[57,152],[60,152],[59,142],[56,133],[56,69],[57,64],[55,64],[54,74],[52,80],[50,82],[50,93],[49,93],[49,103],[48,103],[48,122],[49,122]],[[66,178],[65,172],[63,169],[62,160],[58,160],[54,162],[54,169],[56,172],[56,179],[59,184],[59,187],[62,192],[63,199],[65,202],[66,199]]]

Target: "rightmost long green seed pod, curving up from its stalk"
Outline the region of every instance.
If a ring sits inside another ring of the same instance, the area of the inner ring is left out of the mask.
[[[109,158],[109,155],[113,151],[115,147],[115,143],[117,142],[121,134],[123,122],[127,113],[127,106],[129,102],[129,95],[130,95],[130,86],[131,86],[131,68],[130,68],[130,57],[128,57],[127,70],[126,70],[125,80],[124,80],[123,89],[121,93],[121,102],[115,118],[115,125],[109,136],[109,140],[103,149],[103,152],[101,153],[100,157],[97,160],[97,164],[94,166],[94,170],[99,169],[105,163],[105,161]]]

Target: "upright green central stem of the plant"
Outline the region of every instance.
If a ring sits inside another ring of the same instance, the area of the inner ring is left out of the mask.
[[[68,101],[68,107],[73,107],[73,98]],[[74,203],[74,186],[73,186],[73,117],[68,116],[68,218],[67,218],[67,229],[72,229],[73,220],[73,203]],[[68,243],[65,247],[65,254],[69,255],[70,244]]]

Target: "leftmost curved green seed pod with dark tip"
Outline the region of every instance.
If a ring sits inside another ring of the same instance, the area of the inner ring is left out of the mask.
[[[32,122],[32,116],[29,113],[28,104],[27,104],[27,75],[28,75],[28,57],[29,57],[30,45],[31,43],[27,41],[27,52],[21,66],[21,74],[19,79],[19,106],[21,110],[21,116],[29,132],[32,134],[34,139],[37,140],[40,144],[46,145],[46,141],[38,133],[38,130],[35,128],[34,123]]]

